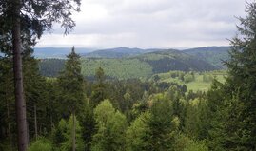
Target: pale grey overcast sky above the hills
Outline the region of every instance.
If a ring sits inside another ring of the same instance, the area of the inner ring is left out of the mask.
[[[68,35],[56,26],[36,47],[227,46],[244,0],[82,0]]]

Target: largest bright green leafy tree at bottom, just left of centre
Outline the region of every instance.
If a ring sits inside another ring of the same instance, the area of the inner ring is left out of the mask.
[[[97,133],[92,139],[92,151],[124,150],[127,119],[105,100],[94,109]]]

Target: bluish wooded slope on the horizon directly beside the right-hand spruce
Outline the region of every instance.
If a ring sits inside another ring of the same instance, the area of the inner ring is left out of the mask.
[[[225,68],[223,62],[228,59],[230,47],[198,47],[183,50],[187,54],[207,61],[207,63],[218,68]]]

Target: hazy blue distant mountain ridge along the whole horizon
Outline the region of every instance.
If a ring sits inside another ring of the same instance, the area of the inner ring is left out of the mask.
[[[34,56],[36,58],[59,58],[64,59],[70,52],[70,47],[36,47],[34,48]],[[76,52],[85,58],[127,58],[135,57],[149,52],[169,51],[169,49],[161,48],[129,48],[116,47],[107,49],[93,49],[87,47],[76,47]],[[177,50],[194,56],[199,60],[221,69],[225,68],[223,62],[228,59],[228,50],[230,47],[197,47],[185,50]],[[172,49],[174,50],[174,49]]]

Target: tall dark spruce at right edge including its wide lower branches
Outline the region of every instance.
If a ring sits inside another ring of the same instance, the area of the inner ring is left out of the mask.
[[[208,92],[212,150],[256,150],[256,2],[246,3],[246,14],[230,41],[226,84]]]

